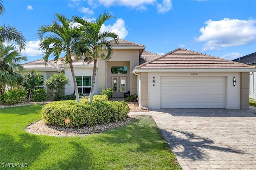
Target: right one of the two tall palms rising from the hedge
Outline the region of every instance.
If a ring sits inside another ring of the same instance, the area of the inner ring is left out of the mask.
[[[98,59],[108,61],[111,58],[112,48],[108,40],[114,39],[116,44],[118,43],[118,35],[116,35],[116,33],[108,31],[100,32],[103,23],[110,18],[113,18],[112,15],[106,12],[98,16],[96,22],[89,22],[78,16],[73,17],[74,22],[80,23],[81,27],[84,29],[84,32],[78,37],[78,40],[74,45],[76,56],[81,57],[84,55],[84,62],[94,62],[89,103],[92,103],[94,94],[97,61]],[[84,50],[84,44],[87,44],[91,51],[88,51],[87,49]],[[107,52],[107,55],[105,55],[104,52]]]

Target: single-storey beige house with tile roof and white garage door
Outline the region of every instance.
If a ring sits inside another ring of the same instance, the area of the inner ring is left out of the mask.
[[[145,46],[124,39],[110,41],[113,53],[109,61],[98,61],[95,94],[111,87],[114,98],[124,93],[138,94],[140,107],[154,108],[226,108],[249,109],[249,73],[255,66],[176,49],[166,55],[145,51]],[[40,64],[39,64],[40,63]],[[23,64],[26,70],[50,74],[65,72],[70,84],[65,94],[74,93],[69,65],[42,60]],[[90,93],[92,64],[83,59],[73,63],[78,91]]]

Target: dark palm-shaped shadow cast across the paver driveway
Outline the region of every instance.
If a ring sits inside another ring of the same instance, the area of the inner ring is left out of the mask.
[[[247,154],[240,149],[211,145],[214,143],[214,141],[211,139],[197,136],[194,133],[190,133],[188,131],[174,130],[174,133],[167,132],[164,129],[161,129],[161,131],[166,138],[166,141],[170,141],[169,146],[174,154],[183,158],[187,157],[191,160],[204,160],[207,157],[210,157],[206,150],[230,152],[235,154]]]

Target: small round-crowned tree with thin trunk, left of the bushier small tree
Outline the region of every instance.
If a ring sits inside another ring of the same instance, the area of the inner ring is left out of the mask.
[[[22,84],[29,91],[28,102],[30,102],[32,90],[35,90],[37,86],[40,86],[42,79],[43,78],[40,76],[40,72],[37,70],[32,70],[25,75]]]

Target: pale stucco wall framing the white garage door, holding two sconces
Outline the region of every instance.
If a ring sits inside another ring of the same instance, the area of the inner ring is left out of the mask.
[[[155,77],[155,86],[148,83],[148,107],[160,108],[160,77],[161,76],[191,76],[191,72],[149,72],[148,82]],[[200,72],[198,76],[226,76],[226,109],[240,109],[240,72]],[[233,86],[233,77],[236,77],[236,86]]]

